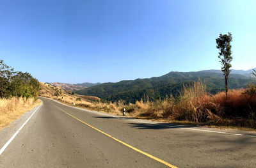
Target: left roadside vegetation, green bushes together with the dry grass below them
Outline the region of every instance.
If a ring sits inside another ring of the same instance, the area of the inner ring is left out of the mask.
[[[15,72],[0,60],[0,129],[40,103],[39,89],[29,73]]]

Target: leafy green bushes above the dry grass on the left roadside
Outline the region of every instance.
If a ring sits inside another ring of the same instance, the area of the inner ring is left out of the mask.
[[[28,72],[14,72],[13,68],[0,60],[0,98],[34,97],[38,95],[40,84]]]

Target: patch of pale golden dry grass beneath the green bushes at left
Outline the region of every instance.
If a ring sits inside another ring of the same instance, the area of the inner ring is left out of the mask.
[[[34,98],[0,99],[0,130],[40,103],[40,100],[35,101]]]

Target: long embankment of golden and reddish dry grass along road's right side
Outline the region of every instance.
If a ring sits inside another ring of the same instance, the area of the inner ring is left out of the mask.
[[[54,98],[68,105],[76,103],[77,107],[94,111],[122,115],[125,107],[126,114],[133,118],[153,119],[166,122],[193,123],[197,125],[217,125],[256,128],[256,89],[251,85],[248,89],[237,89],[216,95],[208,94],[202,82],[184,87],[178,98],[165,98],[156,102],[137,101],[125,105],[119,101],[102,103],[93,96],[68,95],[63,92],[54,96],[56,88],[41,84],[41,96]],[[63,98],[62,98],[63,97]]]

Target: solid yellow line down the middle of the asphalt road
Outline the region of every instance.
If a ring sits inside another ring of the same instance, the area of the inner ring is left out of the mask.
[[[52,102],[50,102],[50,103],[52,103]],[[52,103],[52,105],[54,105],[54,104]],[[164,160],[161,160],[160,158],[154,157],[154,156],[152,156],[152,155],[146,153],[145,151],[141,151],[140,149],[134,148],[133,146],[131,146],[131,145],[129,145],[129,144],[123,142],[123,141],[120,141],[119,139],[116,139],[115,137],[112,137],[111,135],[107,134],[106,132],[103,132],[103,131],[99,130],[98,128],[95,128],[94,126],[89,125],[88,123],[85,123],[85,122],[82,121],[81,119],[78,119],[78,118],[76,118],[75,116],[72,116],[72,115],[69,114],[68,112],[63,111],[63,109],[61,109],[60,107],[58,107],[58,106],[56,106],[56,105],[54,105],[54,106],[57,107],[58,109],[60,109],[62,112],[65,112],[66,114],[68,114],[68,115],[71,116],[72,118],[75,118],[75,119],[77,119],[78,121],[80,121],[81,123],[84,123],[85,125],[90,126],[90,127],[93,128],[94,130],[97,130],[98,132],[100,132],[100,133],[102,133],[102,134],[104,134],[104,135],[107,135],[107,136],[110,137],[111,139],[114,139],[115,141],[120,142],[121,144],[124,144],[125,146],[127,146],[127,147],[129,147],[129,148],[131,148],[131,149],[134,149],[134,151],[138,151],[138,152],[140,152],[141,154],[146,155],[147,157],[150,157],[150,158],[156,160],[157,162],[160,162],[161,164],[167,165],[168,167],[178,168],[178,167],[176,167],[175,165],[169,164],[168,162],[165,162]]]

